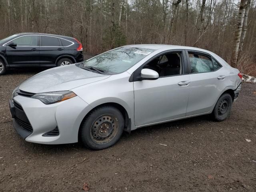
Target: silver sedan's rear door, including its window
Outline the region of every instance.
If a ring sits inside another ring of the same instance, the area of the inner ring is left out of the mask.
[[[211,55],[187,51],[190,75],[190,94],[186,116],[210,112],[230,81],[229,72]]]

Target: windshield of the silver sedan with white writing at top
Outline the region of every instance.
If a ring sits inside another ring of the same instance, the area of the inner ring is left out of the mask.
[[[122,73],[153,51],[154,49],[121,47],[84,61],[82,68],[93,67],[111,74]]]

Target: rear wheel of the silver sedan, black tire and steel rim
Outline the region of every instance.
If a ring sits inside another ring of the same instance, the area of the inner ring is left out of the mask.
[[[230,94],[222,94],[222,96],[220,96],[218,99],[214,110],[212,111],[214,120],[224,121],[226,118],[228,118],[232,109],[232,103],[233,101]]]

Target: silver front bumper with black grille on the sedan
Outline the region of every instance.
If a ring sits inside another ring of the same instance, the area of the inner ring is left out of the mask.
[[[20,95],[10,101],[13,126],[18,134],[28,142],[41,144],[78,142],[80,124],[91,109],[92,107],[78,96],[50,105]],[[31,130],[28,129],[29,126]],[[59,130],[58,136],[43,136],[56,127]]]

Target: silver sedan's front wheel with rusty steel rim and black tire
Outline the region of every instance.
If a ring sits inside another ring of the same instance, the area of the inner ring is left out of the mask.
[[[92,150],[114,145],[124,131],[124,117],[113,106],[102,106],[90,112],[83,120],[79,137],[82,144]]]

